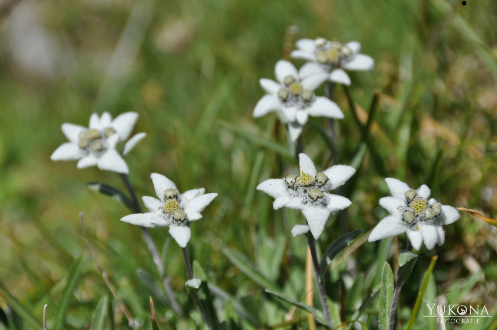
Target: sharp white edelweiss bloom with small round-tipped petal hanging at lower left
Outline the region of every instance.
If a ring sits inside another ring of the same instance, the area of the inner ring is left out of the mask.
[[[264,191],[274,198],[273,208],[282,207],[301,210],[307,219],[306,225],[295,225],[294,237],[311,231],[317,240],[331,213],[343,210],[352,204],[348,198],[330,194],[328,191],[344,184],[354,173],[355,168],[347,165],[334,165],[319,172],[306,154],[299,155],[300,175],[288,175],[282,179],[269,179],[261,182],[257,190]]]

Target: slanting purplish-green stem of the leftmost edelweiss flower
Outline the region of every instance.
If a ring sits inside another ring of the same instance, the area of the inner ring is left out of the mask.
[[[136,213],[142,213],[142,207],[140,206],[140,202],[138,201],[138,197],[136,196],[135,189],[133,189],[133,186],[131,185],[131,182],[129,181],[128,175],[126,174],[119,174],[119,177],[123,181],[124,186],[128,190],[129,194],[131,195],[131,201],[133,202],[135,212]],[[176,300],[176,297],[174,296],[174,292],[172,291],[172,287],[170,284],[170,279],[169,277],[165,274],[164,272],[164,264],[162,263],[162,258],[161,255],[159,254],[159,250],[157,249],[154,239],[152,239],[152,236],[150,235],[150,232],[148,228],[140,226],[143,234],[143,238],[145,239],[145,243],[147,244],[147,248],[150,251],[150,254],[152,254],[152,259],[154,260],[154,263],[156,264],[157,270],[159,271],[159,276],[161,277],[164,288],[166,289],[166,294],[167,298],[169,299],[169,302],[171,303],[171,307],[178,314],[179,316],[183,315],[183,311],[181,310],[181,307],[179,306],[178,301]]]

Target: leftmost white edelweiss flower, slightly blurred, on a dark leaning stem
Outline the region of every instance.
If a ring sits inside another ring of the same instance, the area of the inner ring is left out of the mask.
[[[96,113],[90,117],[89,128],[62,124],[62,132],[69,140],[54,151],[52,161],[76,161],[78,168],[97,165],[100,169],[128,173],[128,165],[116,151],[119,142],[126,141],[135,126],[138,113],[125,112],[112,120],[108,112],[99,118]],[[125,144],[123,155],[128,154],[146,136],[138,133]]]

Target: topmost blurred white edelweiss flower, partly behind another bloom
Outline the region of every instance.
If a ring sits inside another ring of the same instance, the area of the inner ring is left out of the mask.
[[[374,60],[370,56],[359,54],[361,44],[357,41],[343,45],[324,38],[300,39],[296,46],[298,50],[292,51],[290,56],[310,61],[300,69],[302,79],[331,72],[328,76],[331,82],[350,85],[350,78],[343,69],[350,71],[374,70]]]

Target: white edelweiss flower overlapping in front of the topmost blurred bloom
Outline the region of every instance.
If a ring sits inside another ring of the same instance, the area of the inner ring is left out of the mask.
[[[289,123],[292,141],[300,136],[302,126],[307,123],[309,116],[343,118],[343,113],[335,102],[314,94],[314,89],[328,79],[328,73],[321,72],[301,79],[293,64],[281,60],[276,63],[274,75],[278,83],[270,79],[259,80],[267,95],[255,105],[255,118],[271,111],[281,111],[285,121]]]

